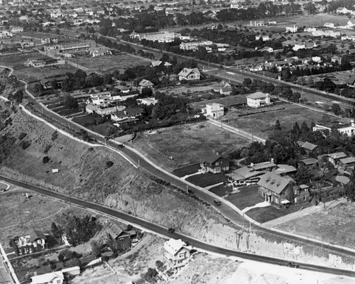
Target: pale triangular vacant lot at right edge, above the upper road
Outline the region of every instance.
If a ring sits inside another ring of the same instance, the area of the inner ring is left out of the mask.
[[[285,222],[277,228],[355,249],[354,210],[354,203],[339,204],[337,207]]]

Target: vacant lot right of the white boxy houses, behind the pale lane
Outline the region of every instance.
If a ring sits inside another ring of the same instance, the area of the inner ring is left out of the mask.
[[[285,109],[283,110],[271,111],[264,114],[253,114],[235,118],[229,115],[229,125],[253,133],[261,138],[268,138],[277,120],[280,121],[283,129],[291,129],[295,121],[299,125],[303,121],[306,121],[309,126],[312,121],[315,123],[320,121],[323,115],[320,111],[299,107],[295,104],[285,104]],[[329,118],[334,119],[332,116],[329,116]]]

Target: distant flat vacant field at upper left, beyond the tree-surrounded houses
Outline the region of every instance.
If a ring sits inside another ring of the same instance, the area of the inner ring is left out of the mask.
[[[78,56],[73,58],[72,62],[78,63],[83,67],[89,68],[92,72],[112,72],[118,69],[124,72],[126,68],[134,67],[137,65],[149,65],[151,60],[140,58],[134,55],[120,54],[120,55],[106,55],[98,58],[92,56]]]

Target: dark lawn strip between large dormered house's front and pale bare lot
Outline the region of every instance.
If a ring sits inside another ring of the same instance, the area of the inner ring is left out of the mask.
[[[310,207],[310,206],[312,206],[311,203],[295,204],[293,206],[290,206],[290,208],[284,208],[284,209],[278,209],[273,206],[268,206],[268,207],[250,209],[248,212],[246,212],[246,214],[249,217],[251,217],[251,219],[254,219],[257,222],[265,223],[265,222],[271,221],[273,219],[283,217],[287,214],[297,212],[302,207],[305,208],[305,207]],[[293,222],[293,221],[291,221],[291,222]]]

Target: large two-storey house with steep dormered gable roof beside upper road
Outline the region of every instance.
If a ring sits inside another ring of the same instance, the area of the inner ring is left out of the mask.
[[[283,206],[293,202],[293,182],[275,173],[267,172],[258,181],[258,193],[266,202]]]

